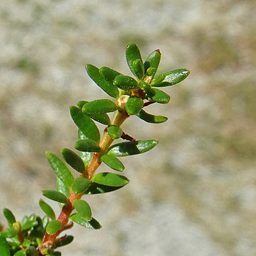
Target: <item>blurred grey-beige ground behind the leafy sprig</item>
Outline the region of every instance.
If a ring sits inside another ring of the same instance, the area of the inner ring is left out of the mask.
[[[255,255],[255,13],[254,0],[1,0],[0,221],[4,207],[43,215],[41,190],[55,188],[45,152],[77,138],[69,105],[109,98],[84,65],[131,75],[133,41],[144,59],[161,50],[158,74],[191,74],[164,89],[169,104],[147,107],[166,123],[123,124],[160,143],[122,159],[129,185],[84,198],[103,227],[75,225],[63,255]]]

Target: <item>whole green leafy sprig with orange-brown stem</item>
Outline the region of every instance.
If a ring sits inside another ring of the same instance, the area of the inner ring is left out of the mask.
[[[9,227],[4,229],[0,226],[1,256],[61,255],[55,249],[71,243],[73,236],[58,236],[62,231],[70,229],[74,222],[87,228],[101,228],[99,222],[92,218],[89,204],[81,197],[117,190],[129,183],[129,179],[116,173],[95,174],[96,169],[104,162],[117,172],[122,172],[124,165],[118,157],[147,152],[158,143],[156,140],[135,140],[121,130],[121,124],[131,115],[149,123],[165,122],[167,117],[148,114],[144,108],[155,102],[168,103],[169,95],[157,87],[172,86],[189,74],[186,69],[178,69],[155,77],[160,58],[160,51],[155,50],[143,63],[138,47],[133,43],[128,44],[126,60],[137,79],[108,67],[98,69],[93,65],[86,66],[92,80],[115,101],[81,100],[77,106],[70,107],[71,117],[78,126],[78,141],[74,147],[80,152],[80,156],[69,148],[63,148],[61,154],[80,175],[74,178],[66,164],[57,156],[46,154],[57,176],[57,189],[43,190],[42,195],[59,203],[59,217],[56,219],[52,207],[42,199],[39,206],[46,214],[42,219],[32,214],[19,222],[5,208],[4,216]],[[112,121],[109,112],[114,112]],[[102,138],[93,120],[106,125]],[[111,146],[119,138],[127,141]]]

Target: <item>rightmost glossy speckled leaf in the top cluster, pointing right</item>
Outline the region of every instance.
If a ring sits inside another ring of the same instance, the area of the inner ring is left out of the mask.
[[[189,75],[189,71],[186,69],[176,69],[159,76],[156,76],[152,82],[151,86],[155,87],[166,87],[173,86],[174,84],[181,82]]]

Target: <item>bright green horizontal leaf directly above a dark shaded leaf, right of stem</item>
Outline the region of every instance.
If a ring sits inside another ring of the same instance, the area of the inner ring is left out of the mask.
[[[93,182],[105,186],[120,187],[129,183],[129,179],[122,175],[113,173],[99,173],[92,177]]]

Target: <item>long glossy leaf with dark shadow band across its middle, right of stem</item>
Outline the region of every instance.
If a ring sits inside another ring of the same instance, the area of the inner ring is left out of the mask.
[[[111,146],[107,154],[115,157],[137,155],[152,150],[152,148],[155,147],[157,143],[157,140],[121,142]]]

